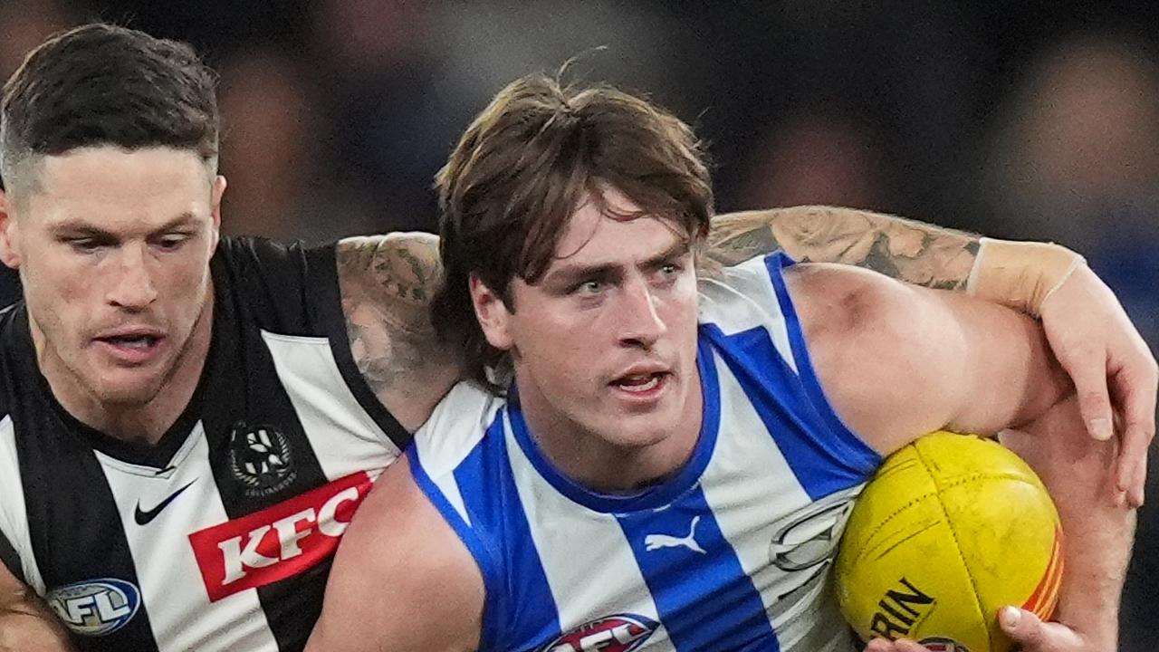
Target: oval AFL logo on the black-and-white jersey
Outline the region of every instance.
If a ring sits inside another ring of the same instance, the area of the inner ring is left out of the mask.
[[[124,580],[102,578],[61,586],[44,596],[65,625],[80,636],[105,636],[125,626],[141,604]]]

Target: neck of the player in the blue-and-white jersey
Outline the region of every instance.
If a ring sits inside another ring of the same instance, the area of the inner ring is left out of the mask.
[[[676,476],[700,441],[701,393],[690,400],[680,426],[659,441],[643,445],[610,442],[570,420],[539,414],[523,404],[524,419],[542,454],[571,480],[600,493],[633,493]]]

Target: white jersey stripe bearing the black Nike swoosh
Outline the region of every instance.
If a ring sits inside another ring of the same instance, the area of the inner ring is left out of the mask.
[[[210,602],[205,586],[174,578],[199,578],[188,533],[229,520],[221,504],[209,444],[201,422],[190,433],[166,473],[95,451],[101,459],[129,549],[138,568],[139,589],[148,604],[150,624],[162,652],[247,650],[277,652],[278,645],[258,603],[243,591]],[[140,523],[140,510],[153,512]],[[151,572],[151,567],[156,572]],[[191,617],[196,614],[196,618]]]

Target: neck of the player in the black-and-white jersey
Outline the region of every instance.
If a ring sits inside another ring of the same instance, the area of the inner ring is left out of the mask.
[[[156,394],[143,404],[118,404],[101,400],[83,386],[60,360],[46,353],[43,334],[30,324],[37,363],[60,405],[82,423],[122,441],[153,445],[181,416],[197,390],[209,356],[213,321],[212,289],[205,307],[194,324],[184,348],[173,362],[169,376],[161,381]]]

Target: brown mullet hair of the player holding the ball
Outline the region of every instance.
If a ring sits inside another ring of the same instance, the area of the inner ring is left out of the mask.
[[[692,129],[643,97],[596,85],[567,86],[544,74],[503,88],[462,135],[436,176],[444,282],[435,327],[464,356],[468,376],[488,386],[503,360],[488,345],[468,289],[472,275],[510,310],[512,278],[538,281],[551,266],[582,201],[614,188],[633,215],[672,220],[691,241],[713,215],[704,147]]]

